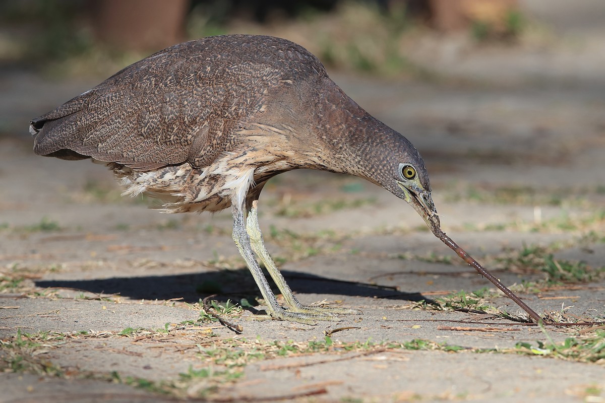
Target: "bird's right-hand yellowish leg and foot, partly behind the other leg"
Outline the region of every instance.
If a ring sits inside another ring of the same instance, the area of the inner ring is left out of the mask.
[[[252,202],[247,214],[246,219],[246,232],[250,237],[250,244],[252,245],[252,250],[257,254],[258,259],[263,262],[265,268],[269,272],[271,278],[277,285],[277,288],[280,289],[281,295],[283,295],[284,300],[286,300],[286,306],[288,311],[291,312],[306,312],[309,314],[323,314],[327,317],[333,317],[333,314],[358,314],[359,311],[355,309],[347,309],[347,308],[320,308],[317,306],[307,306],[302,305],[298,299],[292,294],[292,290],[286,283],[286,279],[281,274],[280,270],[273,262],[269,252],[264,246],[263,242],[263,234],[261,233],[261,229],[258,225],[258,213],[257,213],[257,204],[258,200]],[[332,320],[332,319],[331,319]]]

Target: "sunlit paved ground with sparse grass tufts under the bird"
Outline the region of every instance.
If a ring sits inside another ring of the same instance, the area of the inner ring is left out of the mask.
[[[532,53],[539,76],[490,52],[428,80],[333,79],[416,145],[457,243],[549,320],[604,321],[605,80],[569,74],[602,55]],[[31,153],[28,119],[94,84],[1,77],[0,401],[605,401],[603,326],[517,321],[404,201],[350,176],[277,176],[260,222],[302,303],[362,314],[264,319],[229,211],[160,214],[103,166]]]

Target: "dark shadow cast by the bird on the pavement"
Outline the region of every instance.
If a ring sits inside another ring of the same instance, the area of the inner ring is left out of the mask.
[[[400,292],[391,286],[350,282],[316,276],[304,272],[281,271],[296,294],[335,294],[356,297],[388,298],[394,300],[426,301],[434,303],[419,292]],[[171,300],[178,298],[195,303],[200,298],[218,294],[218,297],[260,297],[260,292],[246,268],[161,276],[111,277],[94,280],[37,280],[36,286],[54,289],[75,289],[94,294],[119,294],[133,300]],[[275,292],[279,292],[274,288]]]

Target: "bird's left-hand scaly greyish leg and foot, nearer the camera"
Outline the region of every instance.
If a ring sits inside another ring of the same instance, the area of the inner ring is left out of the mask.
[[[261,294],[267,303],[267,313],[276,318],[305,324],[316,324],[316,320],[325,320],[326,316],[323,314],[292,312],[281,308],[280,304],[275,298],[275,295],[273,295],[273,291],[271,290],[266,277],[263,274],[263,270],[260,268],[257,260],[254,257],[252,245],[250,245],[250,236],[247,234],[246,227],[244,225],[244,205],[238,206],[234,203],[233,218],[233,240],[235,241],[235,245],[237,245],[241,256],[244,258],[244,260],[246,260],[246,265],[248,266],[248,269],[250,269],[252,277],[254,277],[254,281],[257,283],[258,289],[260,289]]]

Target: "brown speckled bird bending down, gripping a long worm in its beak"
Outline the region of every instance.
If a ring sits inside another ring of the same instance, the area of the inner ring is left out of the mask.
[[[355,309],[302,305],[264,246],[258,199],[294,169],[367,179],[439,228],[424,160],[348,97],[305,48],[271,36],[191,40],[123,68],[30,121],[33,152],[105,164],[163,212],[231,207],[233,239],[272,318],[316,324]],[[278,302],[261,264],[283,295]]]

